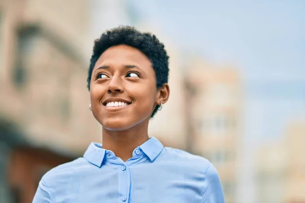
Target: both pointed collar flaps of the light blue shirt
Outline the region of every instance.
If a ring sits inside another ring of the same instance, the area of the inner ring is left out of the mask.
[[[163,150],[163,145],[158,139],[151,137],[138,148],[146,154],[150,161],[154,161]],[[102,144],[93,142],[89,145],[83,157],[90,163],[101,167],[105,154],[106,150],[102,148]]]

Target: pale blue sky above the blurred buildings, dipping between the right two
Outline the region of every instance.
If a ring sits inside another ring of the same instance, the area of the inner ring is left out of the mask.
[[[236,64],[251,141],[282,136],[291,118],[305,115],[305,1],[133,2],[181,50]]]

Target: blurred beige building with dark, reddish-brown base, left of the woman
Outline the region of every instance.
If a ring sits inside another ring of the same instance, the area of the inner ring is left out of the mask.
[[[0,202],[32,202],[41,176],[81,156],[88,110],[87,1],[0,1]]]

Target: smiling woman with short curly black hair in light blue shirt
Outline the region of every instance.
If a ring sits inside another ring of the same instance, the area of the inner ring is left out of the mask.
[[[89,108],[103,126],[103,145],[47,172],[33,202],[224,202],[208,160],[148,137],[149,119],[169,97],[168,58],[155,35],[130,26],[95,41]]]

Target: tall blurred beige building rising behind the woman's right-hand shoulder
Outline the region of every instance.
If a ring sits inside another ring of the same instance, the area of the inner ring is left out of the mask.
[[[215,165],[226,202],[235,202],[241,140],[239,74],[232,67],[216,67],[198,59],[191,59],[188,66],[189,148]]]

